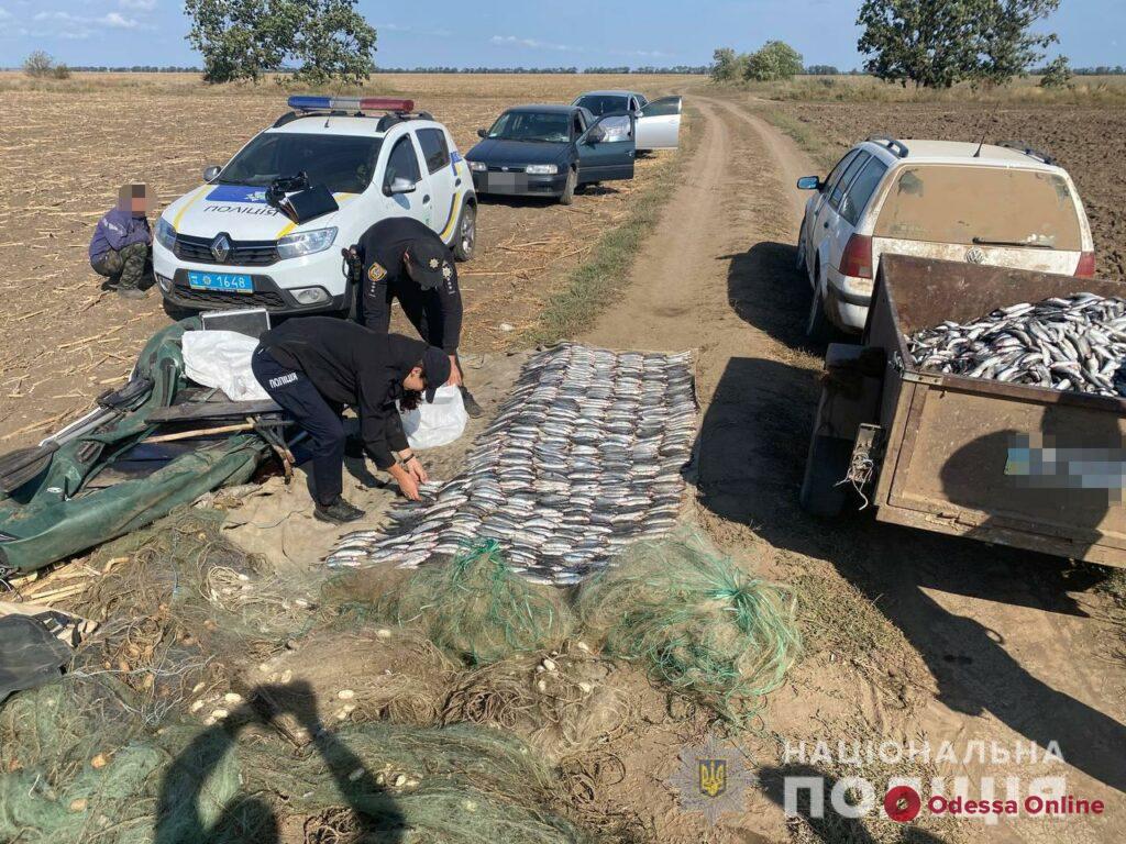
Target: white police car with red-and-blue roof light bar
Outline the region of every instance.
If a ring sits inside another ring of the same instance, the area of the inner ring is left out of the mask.
[[[346,312],[356,294],[341,249],[392,216],[430,226],[458,260],[473,255],[473,179],[445,126],[413,113],[412,100],[291,97],[288,105],[158,221],[153,270],[169,304]],[[298,173],[310,188],[327,188],[338,208],[294,223],[277,197]]]

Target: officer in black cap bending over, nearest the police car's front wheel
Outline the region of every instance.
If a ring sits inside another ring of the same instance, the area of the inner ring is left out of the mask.
[[[450,381],[462,390],[465,412],[476,419],[481,406],[465,387],[457,358],[462,338],[462,291],[454,255],[427,225],[412,217],[388,217],[368,228],[345,250],[349,271],[363,291],[359,318],[385,334],[391,302],[399,299],[406,318],[430,345],[449,356]]]

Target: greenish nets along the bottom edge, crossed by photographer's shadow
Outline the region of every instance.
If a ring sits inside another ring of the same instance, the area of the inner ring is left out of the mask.
[[[150,728],[133,698],[111,677],[64,677],[5,704],[0,841],[275,844],[294,824],[306,841],[591,841],[552,808],[563,790],[538,755],[498,730],[310,724],[297,748],[249,706]]]

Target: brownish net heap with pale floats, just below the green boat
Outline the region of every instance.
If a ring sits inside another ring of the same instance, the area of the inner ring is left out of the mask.
[[[100,575],[68,609],[98,623],[71,666],[113,675],[159,724],[224,666],[261,657],[311,623],[300,584],[283,582],[223,533],[224,514],[182,509],[115,540],[88,563]]]

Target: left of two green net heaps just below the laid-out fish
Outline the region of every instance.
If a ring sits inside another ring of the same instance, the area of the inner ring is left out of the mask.
[[[555,649],[571,630],[558,591],[513,573],[492,539],[409,574],[365,569],[333,591],[352,595],[345,612],[418,629],[471,666]]]

